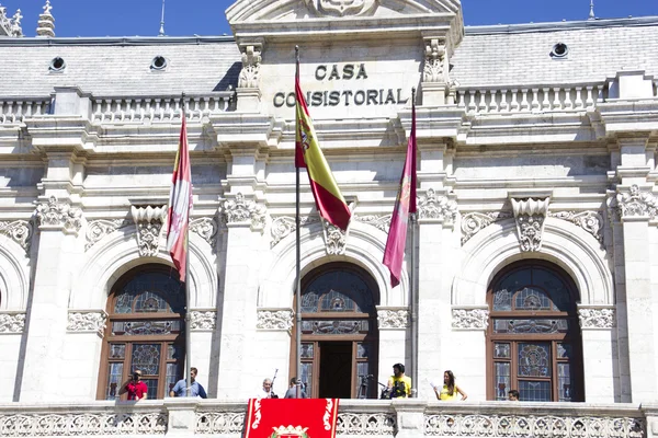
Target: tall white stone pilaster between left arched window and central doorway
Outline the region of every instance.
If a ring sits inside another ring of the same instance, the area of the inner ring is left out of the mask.
[[[226,274],[222,311],[219,356],[220,399],[248,397],[258,389],[256,370],[269,376],[252,355],[257,326],[259,241],[265,223],[265,208],[241,193],[229,195],[224,214],[228,227]]]

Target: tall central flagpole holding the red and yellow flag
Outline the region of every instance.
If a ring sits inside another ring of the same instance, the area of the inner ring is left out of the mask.
[[[299,79],[299,46],[295,46],[295,81]],[[299,117],[295,115],[295,157],[297,154],[296,138],[299,132]],[[295,163],[296,164],[296,163]],[[302,243],[300,243],[300,220],[299,220],[299,166],[295,165],[295,238],[296,238],[296,257],[295,267],[295,351],[297,366],[297,382],[302,381]],[[302,384],[297,383],[297,399],[302,399]],[[307,394],[310,396],[310,394]]]

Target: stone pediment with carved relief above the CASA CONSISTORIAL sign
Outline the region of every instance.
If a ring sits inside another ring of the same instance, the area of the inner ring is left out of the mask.
[[[418,14],[461,15],[461,3],[458,0],[238,0],[226,10],[231,25],[314,18],[384,19]]]

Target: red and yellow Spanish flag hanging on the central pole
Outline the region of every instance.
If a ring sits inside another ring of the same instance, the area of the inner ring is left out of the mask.
[[[295,166],[306,168],[310,189],[315,197],[316,207],[320,216],[330,223],[347,230],[351,212],[348,203],[342,197],[338,184],[333,178],[331,169],[318,146],[318,140],[313,128],[313,120],[299,87],[299,64],[295,76],[295,95],[297,97],[297,126],[295,142]]]

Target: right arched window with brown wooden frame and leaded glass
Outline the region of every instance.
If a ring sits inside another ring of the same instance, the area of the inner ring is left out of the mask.
[[[506,267],[491,283],[487,395],[523,401],[583,401],[582,348],[572,280],[555,265]]]

